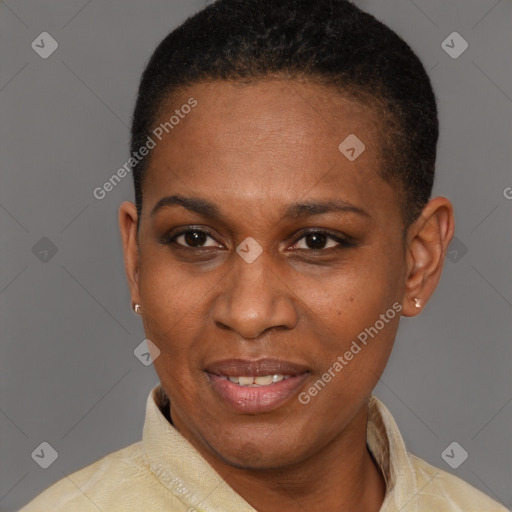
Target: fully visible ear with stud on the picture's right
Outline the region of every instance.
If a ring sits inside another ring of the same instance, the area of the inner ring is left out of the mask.
[[[431,199],[409,227],[402,315],[416,316],[434,293],[454,231],[453,206],[446,197]]]

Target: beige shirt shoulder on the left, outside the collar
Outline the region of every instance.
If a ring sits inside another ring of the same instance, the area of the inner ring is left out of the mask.
[[[160,487],[145,463],[141,442],[137,442],[64,476],[20,512],[143,510],[148,496],[151,505],[155,505],[152,510],[165,510],[158,507]],[[162,506],[172,506],[169,499],[172,497],[162,498]]]

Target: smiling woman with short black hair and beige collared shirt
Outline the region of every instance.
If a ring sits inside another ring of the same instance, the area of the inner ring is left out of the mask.
[[[219,0],[142,77],[133,308],[143,439],[23,510],[504,511],[407,452],[372,390],[453,236],[425,70],[344,0]]]

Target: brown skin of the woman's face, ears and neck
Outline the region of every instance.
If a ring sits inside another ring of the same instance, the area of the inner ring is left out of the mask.
[[[432,199],[404,230],[398,194],[378,173],[379,118],[335,89],[195,84],[173,96],[158,122],[190,97],[197,107],[152,150],[138,235],[134,204],[119,210],[132,302],[160,350],[154,366],[173,424],[259,511],[378,511],[385,484],[366,447],[367,401],[399,315],[308,404],[298,394],[394,303],[404,316],[421,311],[414,298],[423,306],[438,283],[452,206]],[[366,146],[353,162],[338,150],[349,134]],[[223,219],[177,206],[151,216],[171,194],[207,199]],[[282,218],[290,203],[327,199],[365,213]],[[208,236],[162,243],[189,226]],[[353,244],[315,245],[305,236],[312,229]],[[252,263],[236,252],[247,237],[263,250]],[[234,412],[205,368],[264,357],[305,366],[306,381],[275,410]]]

